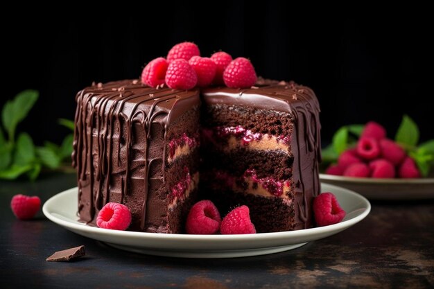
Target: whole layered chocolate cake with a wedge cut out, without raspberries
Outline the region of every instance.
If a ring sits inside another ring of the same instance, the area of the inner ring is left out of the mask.
[[[311,227],[320,108],[308,87],[259,80],[249,89],[179,91],[125,80],[76,100],[81,221],[121,202],[130,230],[182,233],[191,205],[210,199],[223,216],[247,204],[258,232]]]

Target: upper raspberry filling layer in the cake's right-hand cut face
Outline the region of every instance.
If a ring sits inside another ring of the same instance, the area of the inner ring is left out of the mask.
[[[201,137],[204,143],[211,143],[223,150],[233,150],[241,146],[249,150],[284,150],[288,152],[290,143],[290,137],[252,132],[241,125],[202,128]]]

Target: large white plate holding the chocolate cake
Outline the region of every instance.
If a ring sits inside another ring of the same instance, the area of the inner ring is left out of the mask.
[[[42,210],[47,218],[65,229],[130,252],[184,258],[231,258],[295,249],[307,242],[337,234],[360,222],[370,212],[370,202],[358,193],[329,184],[322,184],[322,191],[330,191],[338,198],[342,209],[347,212],[342,222],[312,229],[263,234],[156,234],[91,227],[78,222],[77,188],[54,195],[45,202]]]

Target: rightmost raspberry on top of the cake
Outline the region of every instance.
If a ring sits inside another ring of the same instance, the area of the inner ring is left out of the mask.
[[[251,87],[257,81],[257,73],[254,72],[252,62],[247,58],[236,58],[223,72],[223,80],[227,87],[246,88]]]

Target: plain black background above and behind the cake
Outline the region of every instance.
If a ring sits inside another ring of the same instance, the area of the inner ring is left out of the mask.
[[[188,40],[202,56],[218,50],[244,56],[259,76],[313,88],[322,108],[323,143],[341,125],[370,120],[394,137],[403,114],[419,125],[422,141],[434,138],[427,8],[328,7],[314,13],[286,2],[210,5],[119,4],[112,12],[84,10],[69,17],[21,11],[16,23],[2,19],[6,82],[0,106],[23,89],[39,90],[19,130],[37,144],[60,142],[68,130],[57,120],[73,119],[78,90],[92,81],[138,78],[146,62]]]

